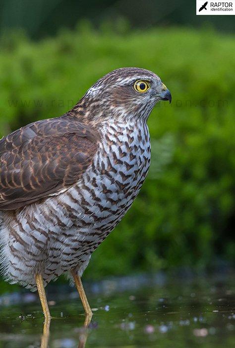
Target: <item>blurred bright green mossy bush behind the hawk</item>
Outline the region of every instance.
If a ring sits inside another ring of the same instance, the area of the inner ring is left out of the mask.
[[[152,164],[116,230],[94,252],[89,277],[235,260],[235,37],[212,29],[82,21],[31,42],[0,38],[0,133],[69,110],[101,76],[124,66],[157,73],[173,101],[149,118]]]

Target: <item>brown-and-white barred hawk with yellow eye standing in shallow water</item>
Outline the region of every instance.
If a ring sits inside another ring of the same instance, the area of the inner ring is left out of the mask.
[[[91,254],[117,226],[149,170],[147,119],[171,93],[154,73],[117,69],[60,117],[31,123],[0,140],[0,246],[10,283],[45,289],[72,274],[81,283]]]

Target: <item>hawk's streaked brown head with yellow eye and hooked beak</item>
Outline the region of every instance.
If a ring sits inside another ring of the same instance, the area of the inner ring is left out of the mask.
[[[147,120],[159,100],[172,95],[153,72],[140,68],[120,68],[98,80],[76,106],[89,121],[125,119]]]

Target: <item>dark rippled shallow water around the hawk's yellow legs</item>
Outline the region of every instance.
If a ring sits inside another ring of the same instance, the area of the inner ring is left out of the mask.
[[[156,275],[142,275],[139,286],[137,279],[85,284],[94,313],[89,326],[75,289],[49,287],[53,318],[50,336],[44,335],[42,341],[39,299],[22,301],[27,298],[22,293],[17,294],[18,302],[10,304],[7,296],[16,295],[1,296],[0,347],[234,347],[234,273],[161,275],[161,282],[159,276],[156,280]]]

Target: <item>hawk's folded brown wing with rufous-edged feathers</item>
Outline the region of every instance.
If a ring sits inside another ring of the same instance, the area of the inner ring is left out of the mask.
[[[73,185],[90,166],[99,134],[64,116],[0,140],[0,210],[17,209]]]

